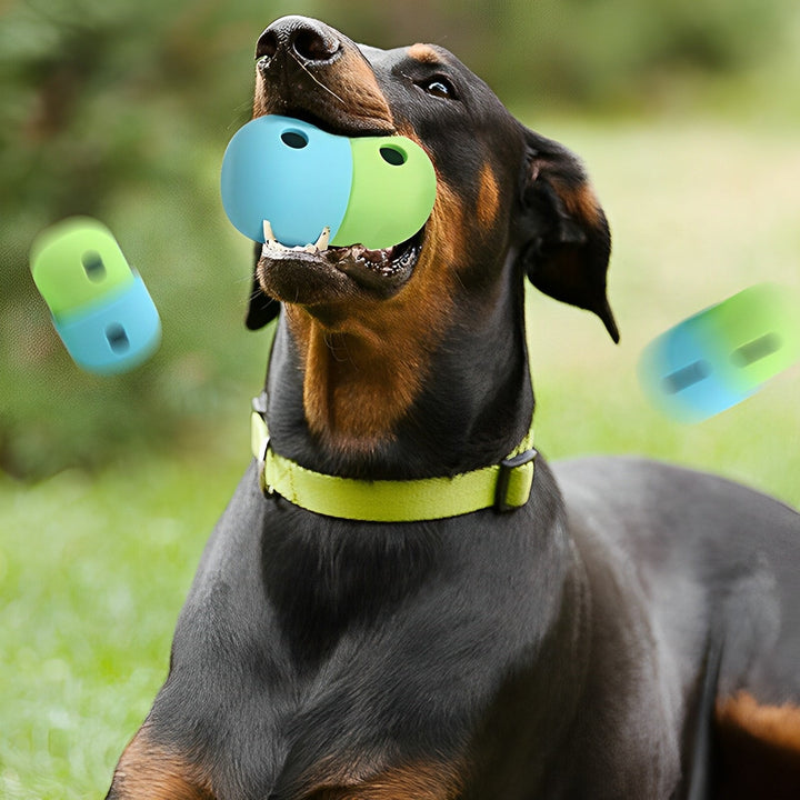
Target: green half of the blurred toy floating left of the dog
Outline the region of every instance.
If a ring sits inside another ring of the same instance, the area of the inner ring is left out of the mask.
[[[31,272],[54,317],[88,307],[133,282],[111,231],[76,217],[48,228],[31,248]]]

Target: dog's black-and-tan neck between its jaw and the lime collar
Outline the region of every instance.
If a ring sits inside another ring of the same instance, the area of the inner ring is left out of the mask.
[[[396,303],[346,324],[284,307],[267,387],[274,449],[322,472],[386,479],[504,458],[533,408],[522,298],[498,290],[491,303],[454,307],[469,316],[420,319]]]

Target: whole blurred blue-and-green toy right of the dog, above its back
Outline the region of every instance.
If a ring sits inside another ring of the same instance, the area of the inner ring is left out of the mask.
[[[746,289],[654,339],[639,364],[642,388],[679,421],[713,417],[800,360],[799,320],[787,290]]]

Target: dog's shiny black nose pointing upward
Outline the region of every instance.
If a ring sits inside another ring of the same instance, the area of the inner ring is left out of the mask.
[[[341,40],[327,24],[307,17],[282,17],[259,37],[256,58],[260,59],[261,69],[287,56],[308,66],[321,66],[332,61],[341,50]]]

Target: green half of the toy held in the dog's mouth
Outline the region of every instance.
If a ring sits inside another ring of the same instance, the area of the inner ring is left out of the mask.
[[[353,180],[334,247],[371,250],[399,244],[422,228],[436,201],[436,171],[428,154],[406,137],[350,140]]]

